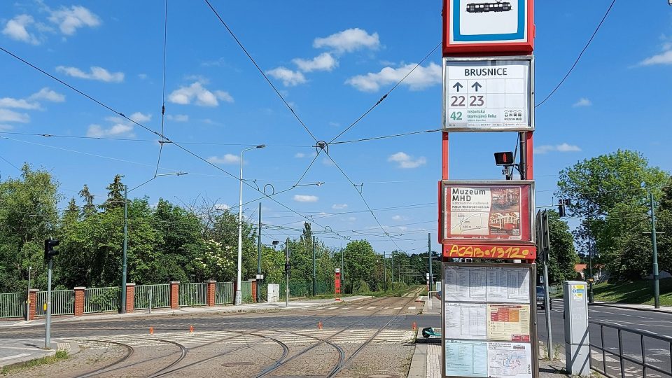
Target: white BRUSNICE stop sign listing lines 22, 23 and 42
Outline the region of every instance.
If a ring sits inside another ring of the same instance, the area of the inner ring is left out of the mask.
[[[443,131],[533,131],[532,57],[444,58]]]

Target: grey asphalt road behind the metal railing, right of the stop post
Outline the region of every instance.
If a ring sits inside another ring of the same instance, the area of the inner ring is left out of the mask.
[[[551,329],[553,344],[556,346],[554,354],[564,356],[564,320],[562,302],[554,301],[551,310]],[[617,325],[626,330],[621,331],[620,345],[623,353],[637,361],[642,361],[642,349],[645,350],[645,360],[650,365],[658,367],[667,374],[661,374],[654,370],[647,370],[647,377],[672,377],[672,362],[670,360],[670,351],[672,346],[669,342],[655,339],[654,337],[642,337],[637,334],[638,330],[653,332],[655,335],[672,337],[672,314],[642,311],[632,309],[621,309],[615,307],[590,306],[588,310],[589,321],[598,321],[605,324]],[[546,340],[546,319],[545,311],[538,309],[538,337],[540,340]],[[615,328],[591,323],[589,325],[590,343],[595,346],[605,346],[607,351],[618,353],[619,336]],[[642,346],[644,345],[644,346]],[[606,360],[607,372],[610,375],[620,375],[619,360],[616,356],[602,352],[597,348],[592,348],[592,364],[599,369],[603,369],[603,360]],[[642,368],[636,363],[630,361],[624,362],[624,370],[627,375],[633,377],[642,376]]]

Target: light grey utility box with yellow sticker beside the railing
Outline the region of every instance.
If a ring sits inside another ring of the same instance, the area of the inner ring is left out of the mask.
[[[588,286],[584,281],[562,283],[565,320],[565,360],[569,374],[590,375],[588,337]]]

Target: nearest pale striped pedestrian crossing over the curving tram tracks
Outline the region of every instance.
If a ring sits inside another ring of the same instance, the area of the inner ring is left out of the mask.
[[[244,332],[244,331],[241,331]],[[75,338],[80,346],[90,349],[109,349],[115,347],[111,342],[118,342],[140,347],[174,347],[168,342],[176,342],[193,348],[204,344],[225,344],[234,346],[246,346],[249,344],[276,344],[273,339],[290,345],[306,345],[316,342],[316,339],[326,339],[334,344],[363,344],[370,339],[376,329],[356,328],[349,330],[328,329],[323,330],[250,330],[248,333],[229,331],[176,331],[156,332],[154,335],[114,335],[97,337],[93,339]],[[272,337],[272,339],[265,338]],[[412,330],[382,330],[374,337],[371,344],[403,344],[412,342],[415,332]]]

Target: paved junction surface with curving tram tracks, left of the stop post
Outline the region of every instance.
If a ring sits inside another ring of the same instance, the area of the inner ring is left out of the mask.
[[[75,340],[80,353],[10,376],[406,377],[417,306],[387,297],[279,314],[61,323],[54,337]]]

